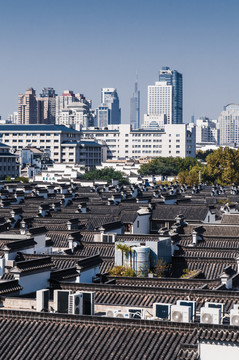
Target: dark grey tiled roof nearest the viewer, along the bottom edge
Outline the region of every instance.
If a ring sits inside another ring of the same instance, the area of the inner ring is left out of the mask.
[[[0,328],[6,360],[198,360],[199,340],[239,341],[238,328],[227,326],[7,310]]]

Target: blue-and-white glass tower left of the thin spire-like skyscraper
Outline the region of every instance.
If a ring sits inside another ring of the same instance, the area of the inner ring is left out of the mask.
[[[121,123],[121,109],[119,107],[119,97],[116,89],[101,89],[101,106],[108,107],[110,110],[108,124]]]

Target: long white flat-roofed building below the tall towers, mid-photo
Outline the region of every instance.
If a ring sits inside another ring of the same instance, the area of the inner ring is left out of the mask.
[[[196,155],[195,127],[188,129],[186,124],[165,125],[161,130],[132,130],[129,124],[120,124],[81,133],[85,140],[105,143],[107,158],[112,160]]]

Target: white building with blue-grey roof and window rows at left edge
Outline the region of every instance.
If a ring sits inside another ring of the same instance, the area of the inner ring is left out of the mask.
[[[51,159],[62,161],[62,143],[80,140],[80,133],[63,125],[0,125],[0,139],[12,150],[34,146],[48,150]]]

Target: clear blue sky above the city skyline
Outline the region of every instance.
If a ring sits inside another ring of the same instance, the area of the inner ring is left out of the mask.
[[[136,71],[141,118],[162,66],[183,73],[184,121],[239,103],[238,0],[0,0],[0,115],[32,86],[100,103],[116,87],[122,121]]]

